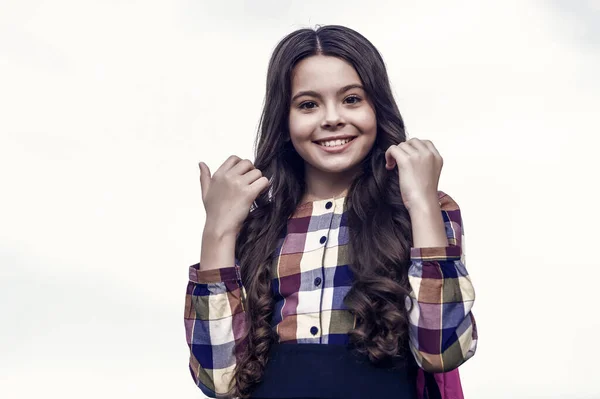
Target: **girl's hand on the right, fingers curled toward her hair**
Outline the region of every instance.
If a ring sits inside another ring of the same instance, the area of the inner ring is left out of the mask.
[[[400,192],[404,206],[438,205],[438,183],[444,160],[429,140],[412,138],[392,145],[385,152],[385,167],[398,165]]]

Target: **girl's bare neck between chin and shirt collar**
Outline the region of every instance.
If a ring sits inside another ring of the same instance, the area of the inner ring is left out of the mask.
[[[302,202],[343,197],[354,180],[355,171],[323,172],[309,165],[305,167],[306,191]]]

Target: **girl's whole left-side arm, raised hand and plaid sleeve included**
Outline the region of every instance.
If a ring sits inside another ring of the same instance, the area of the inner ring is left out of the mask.
[[[230,391],[236,353],[247,331],[236,236],[252,203],[268,189],[269,179],[235,155],[214,176],[205,163],[199,167],[206,223],[200,263],[190,267],[185,331],[196,385],[208,396],[222,397]]]

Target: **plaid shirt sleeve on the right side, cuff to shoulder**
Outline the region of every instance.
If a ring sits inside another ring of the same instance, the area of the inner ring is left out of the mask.
[[[475,291],[465,268],[460,209],[443,192],[440,205],[449,246],[411,248],[408,272],[410,348],[419,366],[432,373],[457,368],[477,347]]]

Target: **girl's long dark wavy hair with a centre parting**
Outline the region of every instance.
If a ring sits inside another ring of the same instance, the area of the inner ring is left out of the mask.
[[[291,76],[295,65],[313,55],[350,63],[362,80],[377,119],[377,135],[348,189],[350,269],[354,276],[345,304],[357,320],[350,344],[374,363],[404,356],[408,323],[411,224],[398,184],[398,172],[385,169],[384,153],[406,140],[404,122],[389,84],[384,61],[361,34],[343,26],[300,29],[286,36],[269,62],[263,112],[255,141],[256,168],[270,180],[244,221],[236,243],[246,288],[247,335],[236,346],[232,395],[247,398],[261,380],[271,345],[273,298],[271,264],[287,220],[305,190],[304,160],[289,140]]]

